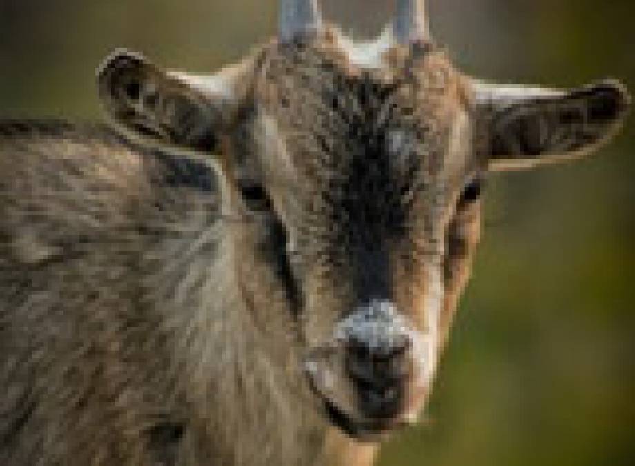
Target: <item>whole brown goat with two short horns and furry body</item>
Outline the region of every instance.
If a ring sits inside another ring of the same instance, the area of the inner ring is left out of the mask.
[[[616,133],[615,81],[462,75],[424,2],[315,0],[216,75],[117,50],[109,124],[0,122],[0,464],[370,466],[429,397],[488,173]]]

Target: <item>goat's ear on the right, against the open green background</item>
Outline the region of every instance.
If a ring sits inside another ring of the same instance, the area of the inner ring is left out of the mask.
[[[583,157],[615,135],[629,106],[616,81],[574,90],[475,82],[473,92],[492,171]]]

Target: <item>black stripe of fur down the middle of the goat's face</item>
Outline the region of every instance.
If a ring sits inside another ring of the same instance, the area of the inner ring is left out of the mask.
[[[332,213],[329,255],[334,264],[351,264],[358,302],[390,299],[387,242],[404,233],[409,206],[402,197],[418,166],[405,176],[397,173],[387,147],[389,128],[379,123],[394,85],[382,86],[369,75],[342,78],[340,84],[344,86],[340,93],[352,101],[333,99],[333,110],[346,122],[346,135],[335,148],[323,145],[335,174],[322,193]]]

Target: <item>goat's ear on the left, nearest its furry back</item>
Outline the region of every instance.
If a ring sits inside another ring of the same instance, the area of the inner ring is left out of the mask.
[[[215,146],[227,100],[217,77],[167,72],[141,55],[116,50],[97,80],[106,113],[127,135],[190,149]]]

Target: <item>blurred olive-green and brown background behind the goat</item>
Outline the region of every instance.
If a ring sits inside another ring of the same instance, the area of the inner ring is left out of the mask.
[[[391,0],[325,1],[372,35]],[[635,91],[633,0],[429,0],[456,65],[498,81]],[[95,119],[126,46],[211,71],[275,33],[275,0],[0,0],[0,116]],[[597,157],[491,177],[485,240],[420,427],[389,466],[635,465],[635,131]]]

